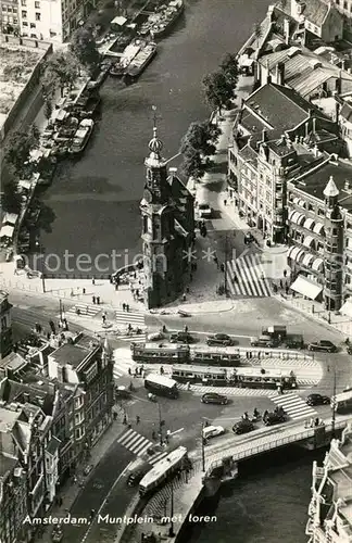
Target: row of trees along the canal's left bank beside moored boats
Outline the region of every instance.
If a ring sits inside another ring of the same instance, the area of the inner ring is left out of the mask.
[[[41,77],[43,112],[50,118],[55,90],[71,88],[83,73],[92,75],[100,63],[100,54],[91,28],[79,28],[72,37],[67,51],[54,52],[47,61]],[[4,151],[5,175],[2,182],[1,205],[9,213],[18,213],[21,197],[17,181],[32,175],[28,161],[30,151],[39,146],[39,130],[14,131]]]

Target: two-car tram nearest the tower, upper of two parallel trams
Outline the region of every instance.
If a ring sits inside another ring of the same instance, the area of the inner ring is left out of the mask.
[[[198,345],[175,345],[175,343],[133,343],[131,357],[144,364],[211,364],[213,366],[238,366],[240,352],[238,348],[209,348]]]

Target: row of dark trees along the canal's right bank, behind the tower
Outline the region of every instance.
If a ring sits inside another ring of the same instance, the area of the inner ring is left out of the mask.
[[[221,114],[223,108],[231,108],[238,76],[237,56],[227,53],[219,70],[203,78],[205,101],[215,113]],[[186,177],[200,179],[212,167],[213,161],[210,156],[215,153],[219,135],[221,129],[210,121],[191,123],[179,150],[184,157],[183,172]]]

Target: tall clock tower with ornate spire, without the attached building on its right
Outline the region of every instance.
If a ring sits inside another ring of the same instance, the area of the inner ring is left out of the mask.
[[[142,219],[142,252],[144,302],[148,308],[169,302],[175,282],[175,204],[167,180],[166,161],[162,157],[162,141],[156,127],[149,142],[150,154],[144,161],[146,181],[140,202]]]

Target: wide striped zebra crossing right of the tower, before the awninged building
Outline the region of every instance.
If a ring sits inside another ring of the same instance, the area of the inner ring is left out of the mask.
[[[265,298],[272,295],[272,290],[261,256],[246,254],[239,258],[228,261],[227,279],[230,293],[235,296]]]

